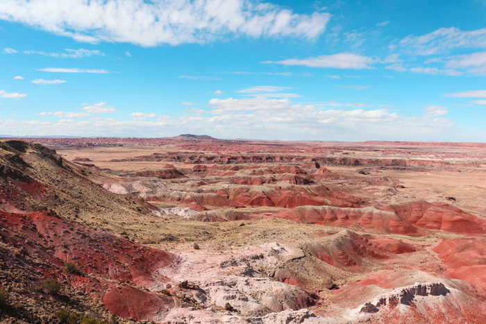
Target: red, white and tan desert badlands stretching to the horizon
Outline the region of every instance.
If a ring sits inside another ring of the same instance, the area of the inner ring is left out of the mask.
[[[480,143],[1,139],[0,321],[486,323],[485,161]]]

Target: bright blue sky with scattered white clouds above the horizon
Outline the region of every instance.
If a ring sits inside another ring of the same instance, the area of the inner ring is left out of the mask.
[[[486,142],[486,1],[0,3],[0,134]]]

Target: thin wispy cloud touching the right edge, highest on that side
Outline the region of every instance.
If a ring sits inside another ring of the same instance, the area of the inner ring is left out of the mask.
[[[486,28],[461,31],[459,28],[439,28],[422,36],[409,35],[399,44],[416,55],[446,53],[456,48],[486,48]]]

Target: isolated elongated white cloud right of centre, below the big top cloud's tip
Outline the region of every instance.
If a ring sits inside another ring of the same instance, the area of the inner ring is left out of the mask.
[[[303,60],[287,59],[277,62],[266,61],[262,63],[276,63],[281,65],[303,65],[305,67],[321,67],[330,69],[370,69],[373,63],[371,58],[353,53],[338,53],[323,55],[317,58],[305,58]]]

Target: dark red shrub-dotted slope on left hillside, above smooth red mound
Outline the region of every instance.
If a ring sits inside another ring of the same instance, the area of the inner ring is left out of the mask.
[[[135,282],[141,287],[151,287],[156,281],[164,280],[153,276],[153,271],[176,262],[172,253],[145,248],[128,239],[90,230],[41,212],[15,214],[0,211],[0,226],[9,244],[22,246],[29,254],[42,255],[59,265],[61,261],[76,262],[81,271],[106,275],[112,280]]]

